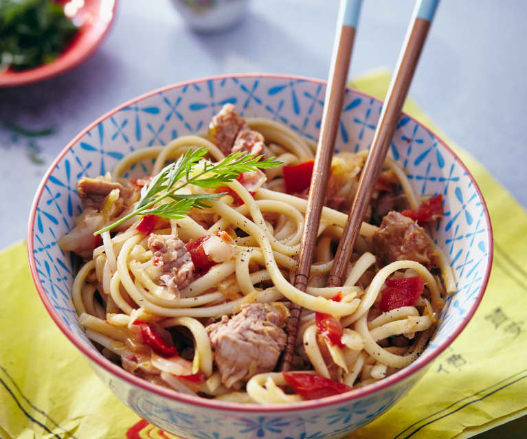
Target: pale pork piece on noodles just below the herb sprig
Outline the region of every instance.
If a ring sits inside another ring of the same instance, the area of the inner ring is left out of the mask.
[[[194,263],[183,241],[174,235],[150,234],[148,248],[154,254],[154,264],[161,269],[161,282],[179,297],[179,291],[192,281]]]

